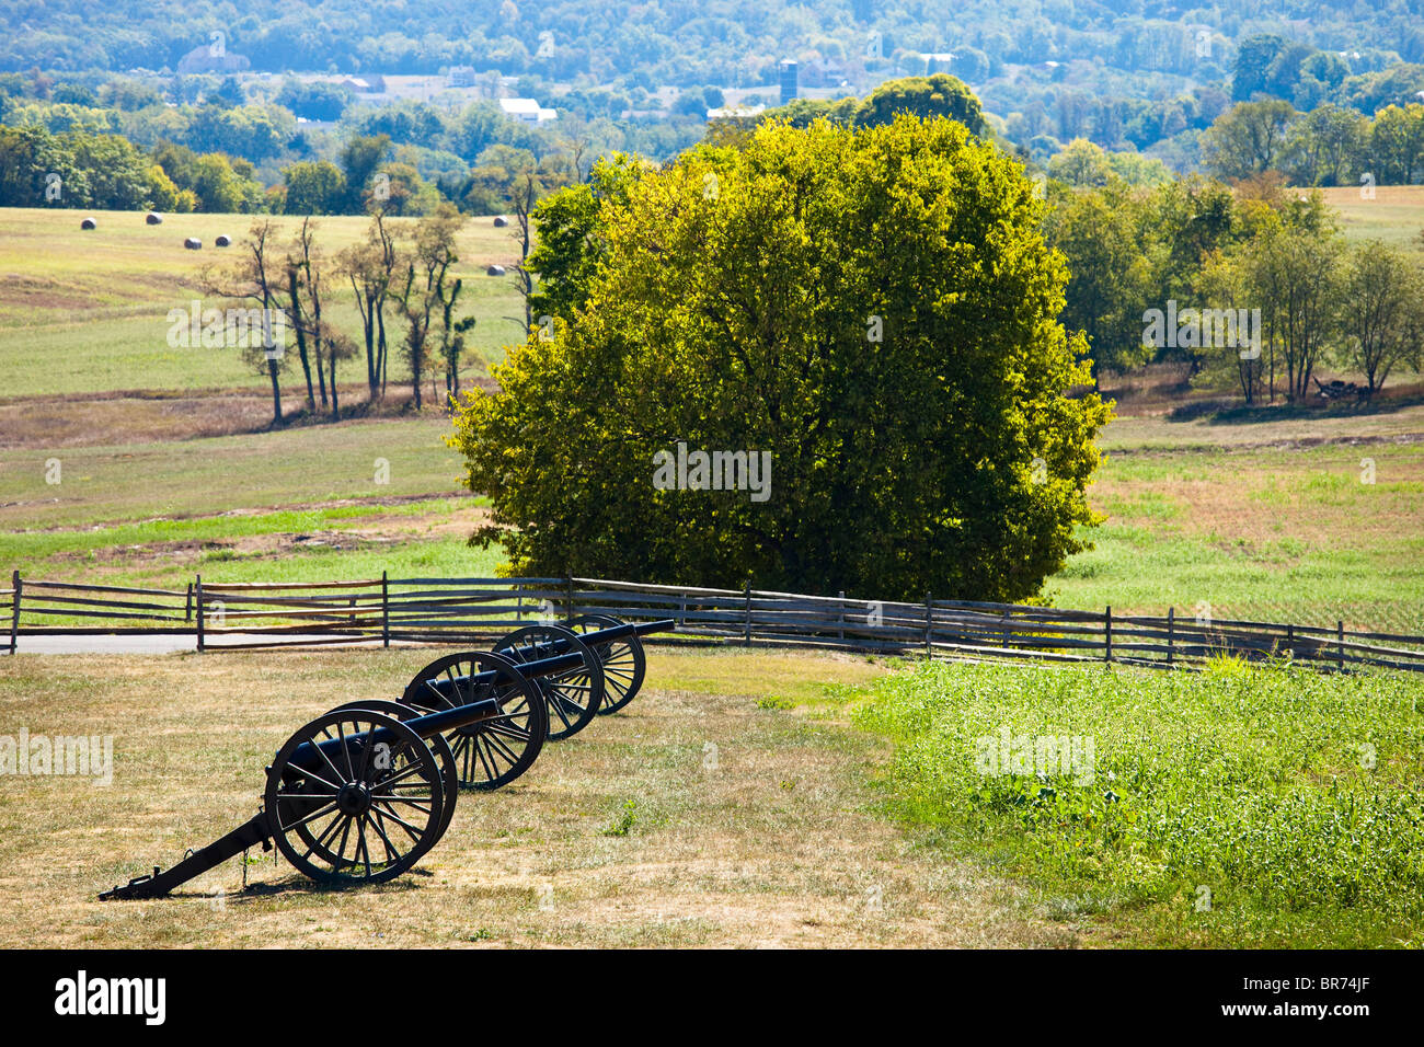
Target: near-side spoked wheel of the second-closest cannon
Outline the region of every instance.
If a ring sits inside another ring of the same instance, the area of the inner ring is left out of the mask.
[[[493,684],[454,682],[480,672],[498,675]],[[446,698],[427,685],[437,679],[447,681],[457,698]],[[414,675],[400,704],[422,712],[440,712],[480,698],[496,698],[504,714],[450,731],[446,741],[454,752],[460,785],[498,789],[533,766],[548,736],[548,704],[513,661],[491,651],[460,651],[436,658]]]

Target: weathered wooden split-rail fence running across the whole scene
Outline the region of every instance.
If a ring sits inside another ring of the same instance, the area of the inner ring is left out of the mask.
[[[1239,620],[1180,618],[965,600],[854,600],[743,587],[607,578],[379,578],[214,583],[185,590],[21,578],[0,590],[9,650],[19,637],[182,634],[199,651],[332,644],[464,644],[581,614],[674,618],[658,642],[1055,662],[1192,667],[1219,654],[1290,658],[1329,670],[1424,671],[1424,635]],[[0,644],[3,645],[3,644]]]

